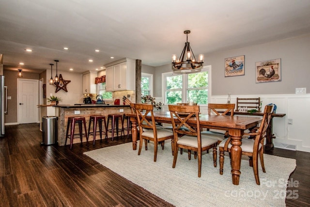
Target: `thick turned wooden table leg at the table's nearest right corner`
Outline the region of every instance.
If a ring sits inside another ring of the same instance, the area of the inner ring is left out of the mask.
[[[231,144],[233,145],[231,147],[231,159],[232,159],[232,178],[233,178],[233,184],[239,185],[239,178],[240,178],[240,166],[241,166],[241,137],[242,137],[243,131],[240,129],[230,129],[229,135],[231,136]]]

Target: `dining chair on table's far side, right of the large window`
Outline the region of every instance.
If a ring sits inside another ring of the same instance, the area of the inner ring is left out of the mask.
[[[230,116],[233,116],[235,104],[208,104],[208,114],[217,115],[217,116],[226,116],[230,113]],[[228,131],[207,131],[201,132],[202,137],[211,137],[218,140],[218,144],[221,143],[225,138],[228,137]]]

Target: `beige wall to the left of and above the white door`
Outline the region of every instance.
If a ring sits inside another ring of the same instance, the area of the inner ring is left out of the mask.
[[[4,70],[3,75],[4,85],[8,87],[8,96],[12,98],[8,100],[8,114],[4,116],[4,123],[17,123],[17,70]],[[23,72],[21,79],[39,80],[39,74]]]

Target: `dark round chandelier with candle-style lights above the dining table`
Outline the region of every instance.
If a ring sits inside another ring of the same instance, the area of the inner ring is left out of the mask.
[[[199,54],[199,59],[197,62],[193,50],[189,46],[189,42],[187,41],[187,35],[190,33],[190,31],[186,30],[184,31],[184,33],[186,34],[185,46],[179,59],[176,58],[176,55],[172,55],[172,66],[173,68],[178,70],[200,68],[203,64],[203,54]]]

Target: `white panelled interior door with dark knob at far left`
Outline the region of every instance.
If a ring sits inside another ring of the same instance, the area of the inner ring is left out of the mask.
[[[38,122],[39,80],[17,79],[17,117],[19,124]]]

